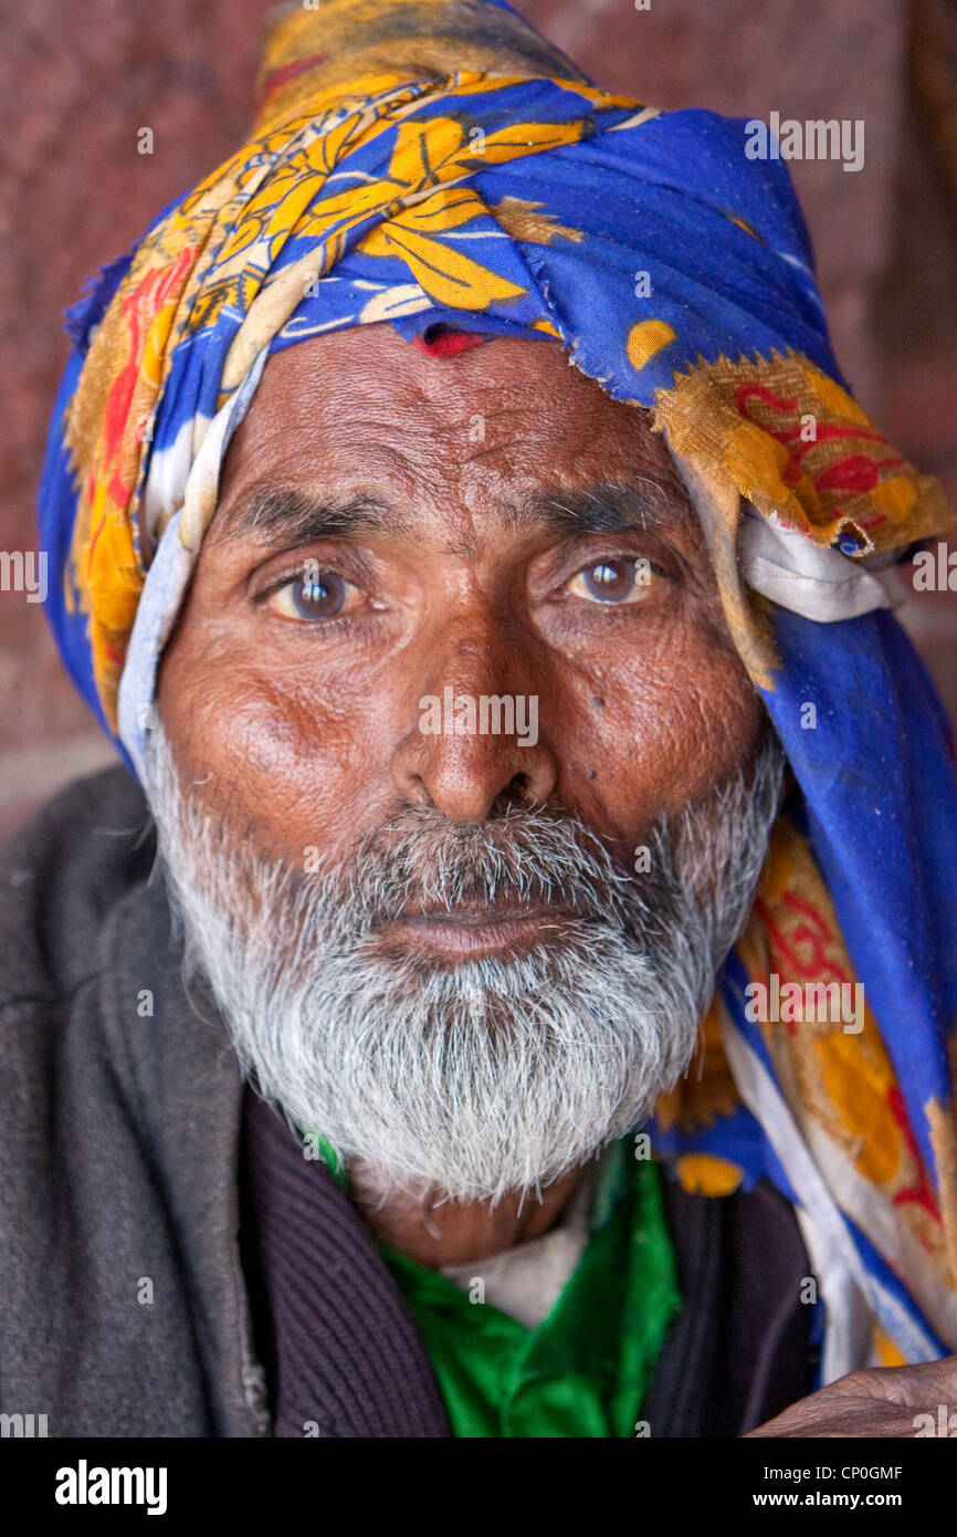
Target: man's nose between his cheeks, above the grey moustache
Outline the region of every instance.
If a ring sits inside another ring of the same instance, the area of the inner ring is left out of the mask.
[[[558,759],[538,670],[515,638],[473,616],[424,646],[416,672],[413,718],[392,759],[393,782],[410,805],[478,822],[502,795],[524,805],[553,795]]]

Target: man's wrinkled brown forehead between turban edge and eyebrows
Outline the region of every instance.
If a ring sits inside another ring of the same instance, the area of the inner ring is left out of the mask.
[[[614,527],[618,487],[650,515],[693,516],[648,412],[611,400],[555,341],[479,340],[418,347],[366,326],[270,357],[226,455],[210,533],[249,523],[250,503],[278,489],[475,510],[602,489]]]

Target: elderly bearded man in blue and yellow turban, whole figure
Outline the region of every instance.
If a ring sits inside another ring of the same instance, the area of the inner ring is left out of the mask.
[[[260,91],[71,314],[49,612],[132,773],[5,853],[2,1408],[919,1434],[948,513],[786,172],[499,3],[287,8]]]

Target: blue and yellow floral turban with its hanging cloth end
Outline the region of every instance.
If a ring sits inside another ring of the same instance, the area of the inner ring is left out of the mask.
[[[382,321],[545,337],[650,413],[797,785],[653,1142],[688,1188],[794,1203],[831,1380],[957,1349],[957,785],[891,612],[949,515],[848,392],[786,166],[753,141],[598,89],[499,0],[273,12],[249,141],[69,312],[40,538],[66,667],[143,775],[270,352]],[[756,984],[780,1017],[751,1017]],[[862,1028],[802,1014],[805,984],[860,984]]]

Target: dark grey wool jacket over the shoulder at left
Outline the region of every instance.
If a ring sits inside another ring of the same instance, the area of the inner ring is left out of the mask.
[[[178,982],[149,833],[115,768],[0,855],[0,1411],[51,1436],[266,1434],[243,1084]]]

